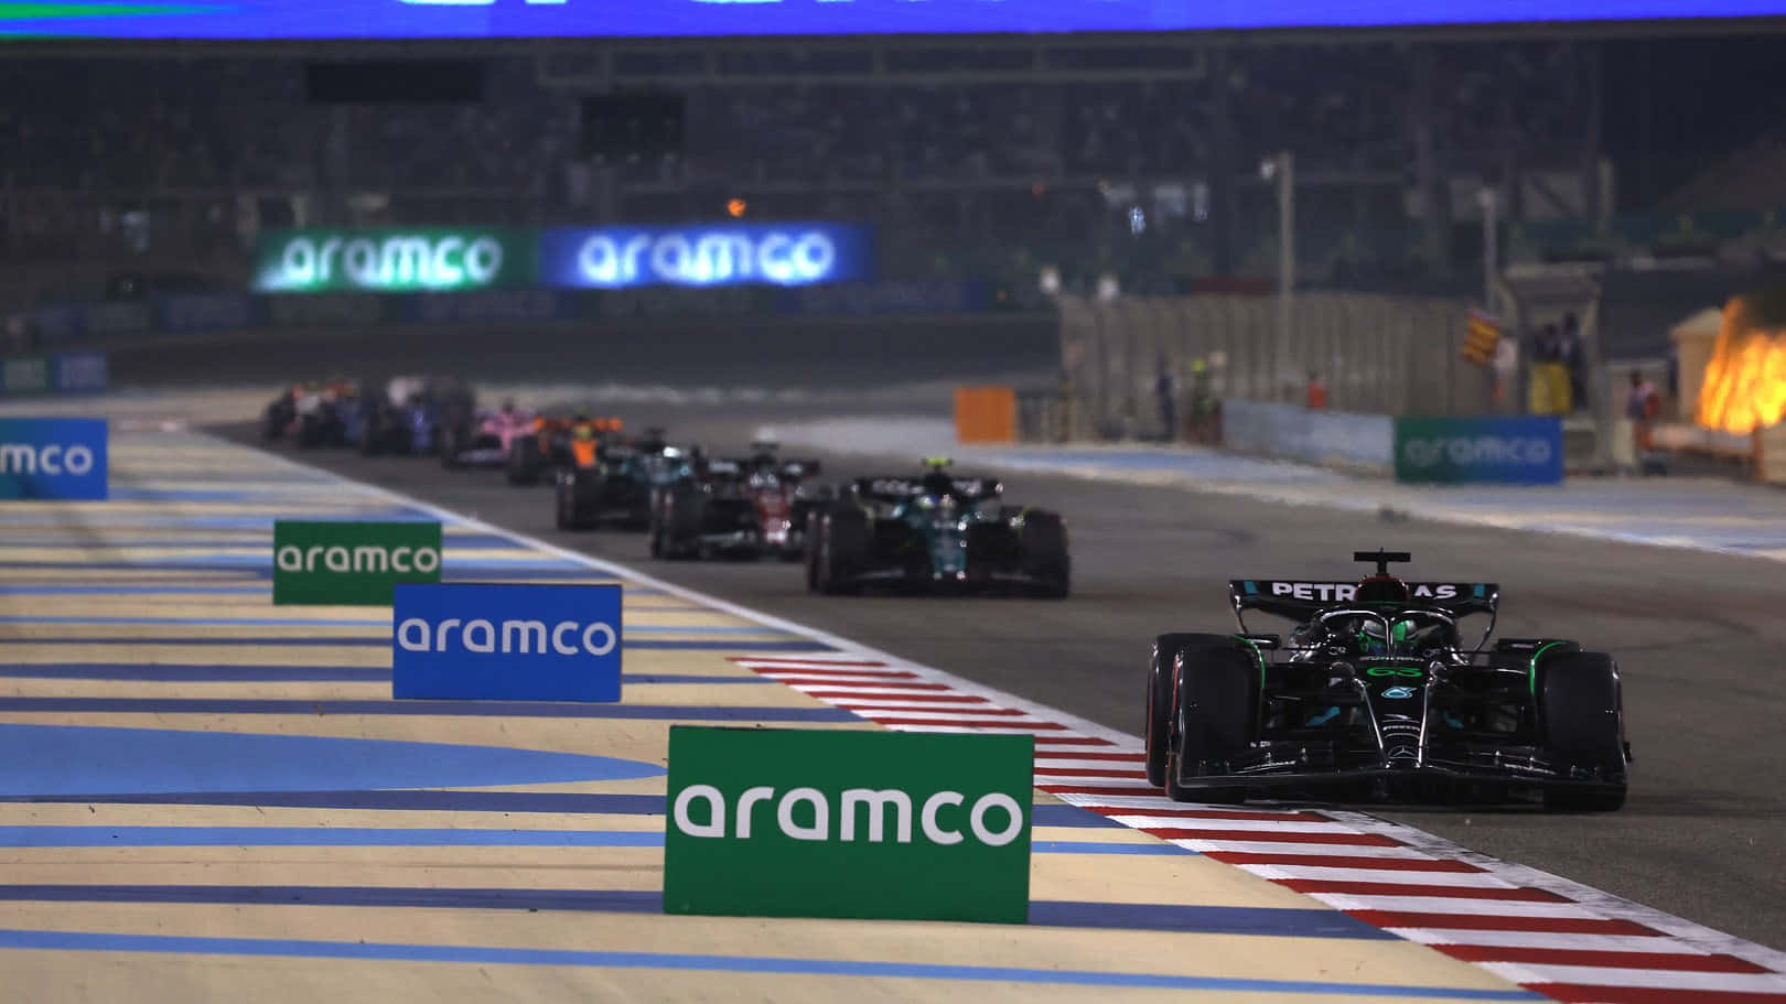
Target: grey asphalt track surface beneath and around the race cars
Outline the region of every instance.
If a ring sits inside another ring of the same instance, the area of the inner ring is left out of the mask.
[[[786,418],[745,407],[629,414],[716,452],[741,447],[759,422]],[[254,441],[246,425],[223,432]],[[1072,598],[832,598],[809,595],[797,565],[654,563],[643,534],[561,532],[550,489],[516,489],[497,472],[352,452],[296,459],[1131,734],[1141,729],[1152,636],[1229,629],[1227,579],[1347,579],[1359,573],[1354,548],[1406,548],[1409,577],[1500,582],[1498,634],[1575,638],[1616,654],[1636,752],[1631,800],[1590,816],[1531,806],[1359,807],[1786,949],[1786,568],[1773,561],[1013,473],[1009,498],[1070,520]],[[838,477],[886,470],[822,459]]]

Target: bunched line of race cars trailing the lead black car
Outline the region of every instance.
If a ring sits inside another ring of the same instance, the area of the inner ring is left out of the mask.
[[[664,561],[802,563],[807,588],[823,595],[1072,591],[1061,516],[1009,506],[1004,484],[954,475],[947,459],[823,484],[816,459],[784,457],[775,443],[709,456],[661,429],[630,434],[611,416],[480,407],[470,386],[441,377],[295,384],[268,404],[263,438],[502,468],[513,486],[552,486],[561,531],[643,531]]]

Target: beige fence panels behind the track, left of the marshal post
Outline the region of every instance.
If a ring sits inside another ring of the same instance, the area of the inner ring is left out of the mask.
[[[1273,297],[1059,297],[1063,416],[1072,438],[1186,438],[1207,400],[1307,404],[1365,414],[1479,414],[1490,373],[1459,359],[1463,302],[1372,293],[1298,293],[1281,325]],[[1172,379],[1173,425],[1161,407]],[[1193,436],[1195,438],[1195,436]]]

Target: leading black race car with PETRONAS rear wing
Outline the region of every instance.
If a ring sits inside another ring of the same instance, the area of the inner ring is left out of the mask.
[[[1161,634],[1147,681],[1147,777],[1175,800],[1248,790],[1625,804],[1623,704],[1611,656],[1495,631],[1491,582],[1404,582],[1406,552],[1359,552],[1361,582],[1229,584],[1239,634]],[[1254,634],[1247,611],[1289,618]],[[1473,647],[1457,622],[1486,615]]]

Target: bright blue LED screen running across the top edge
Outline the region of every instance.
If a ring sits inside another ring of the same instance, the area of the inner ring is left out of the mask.
[[[1156,32],[1786,14],[1786,0],[0,0],[0,38]]]

